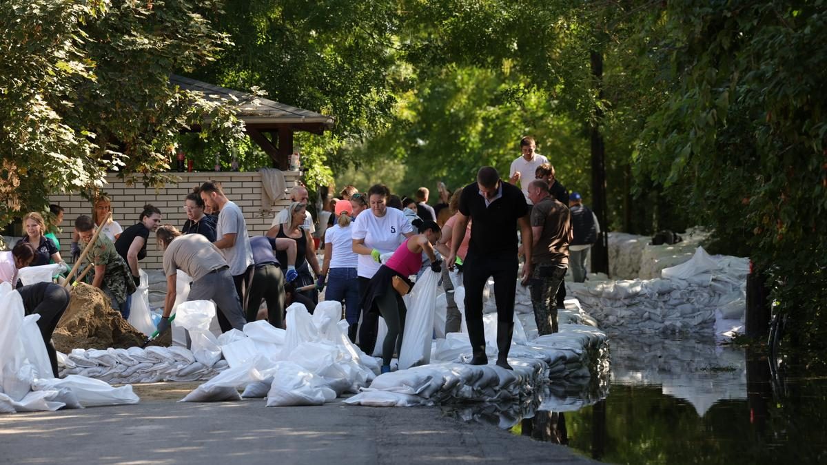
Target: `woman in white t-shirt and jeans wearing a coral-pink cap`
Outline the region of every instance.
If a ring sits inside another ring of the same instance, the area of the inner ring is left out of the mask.
[[[359,323],[359,280],[356,276],[356,264],[359,256],[353,252],[351,239],[352,222],[365,210],[365,204],[356,202],[356,208],[347,200],[336,203],[337,222],[327,228],[324,235],[324,261],[322,274],[318,278],[318,287],[324,288],[327,276],[327,291],[324,300],[335,300],[345,304],[347,319],[347,336],[356,342],[356,328]]]

